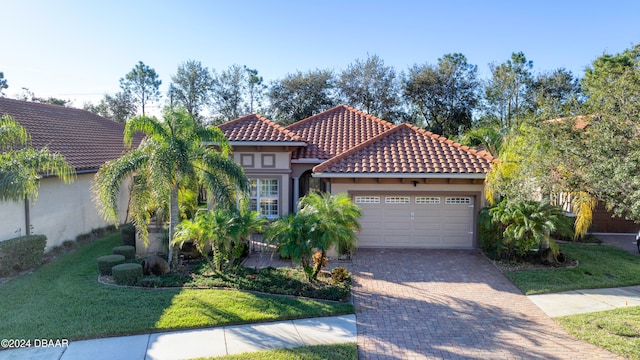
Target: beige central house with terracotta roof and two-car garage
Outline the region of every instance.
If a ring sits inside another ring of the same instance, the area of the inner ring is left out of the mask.
[[[344,105],[287,127],[249,115],[220,129],[267,218],[310,191],[347,193],[363,210],[359,247],[477,247],[486,151]]]

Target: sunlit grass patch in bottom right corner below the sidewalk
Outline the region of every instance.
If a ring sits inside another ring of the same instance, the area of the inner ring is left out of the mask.
[[[640,306],[555,318],[577,337],[627,359],[640,360]]]

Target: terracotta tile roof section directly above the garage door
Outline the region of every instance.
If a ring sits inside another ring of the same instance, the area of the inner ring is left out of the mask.
[[[485,174],[493,158],[401,124],[313,168],[314,173]]]

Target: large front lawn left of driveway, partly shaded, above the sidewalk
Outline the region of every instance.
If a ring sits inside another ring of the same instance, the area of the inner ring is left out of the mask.
[[[0,334],[73,340],[354,312],[351,304],[236,290],[99,284],[96,258],[121,244],[119,233],[109,235],[0,284]]]

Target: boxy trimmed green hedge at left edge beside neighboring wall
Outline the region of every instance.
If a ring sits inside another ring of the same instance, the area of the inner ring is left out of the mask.
[[[42,263],[47,237],[29,235],[0,242],[0,275],[13,275]]]

